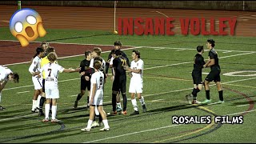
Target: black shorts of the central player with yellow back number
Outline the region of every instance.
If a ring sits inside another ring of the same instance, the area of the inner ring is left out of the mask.
[[[126,75],[122,75],[120,77],[114,77],[114,82],[112,85],[113,91],[121,91],[122,93],[126,93]]]

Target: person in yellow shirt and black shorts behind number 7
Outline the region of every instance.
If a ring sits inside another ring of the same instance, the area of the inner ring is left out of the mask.
[[[49,63],[49,59],[48,59],[48,54],[50,54],[51,52],[54,52],[55,53],[55,50],[54,50],[54,47],[51,47],[49,46],[47,49],[46,49],[46,57],[42,58],[41,62],[40,62],[40,66],[45,66],[47,63]],[[55,62],[57,63],[57,62]],[[39,103],[39,116],[44,116],[43,112],[42,112],[42,106],[44,104],[44,102],[46,101],[46,91],[45,91],[45,82],[46,82],[46,74],[45,72],[43,71],[42,72],[42,98],[40,98],[40,103]],[[51,106],[50,106],[51,107]]]

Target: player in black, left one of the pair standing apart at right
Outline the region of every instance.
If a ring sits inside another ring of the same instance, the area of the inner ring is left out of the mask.
[[[198,54],[194,56],[194,69],[192,71],[192,78],[194,82],[194,89],[191,94],[186,95],[186,100],[191,104],[191,99],[193,97],[192,104],[200,104],[197,101],[197,94],[202,90],[202,68],[203,65],[206,64],[204,58],[202,57],[202,53],[204,52],[203,46],[197,47]]]

